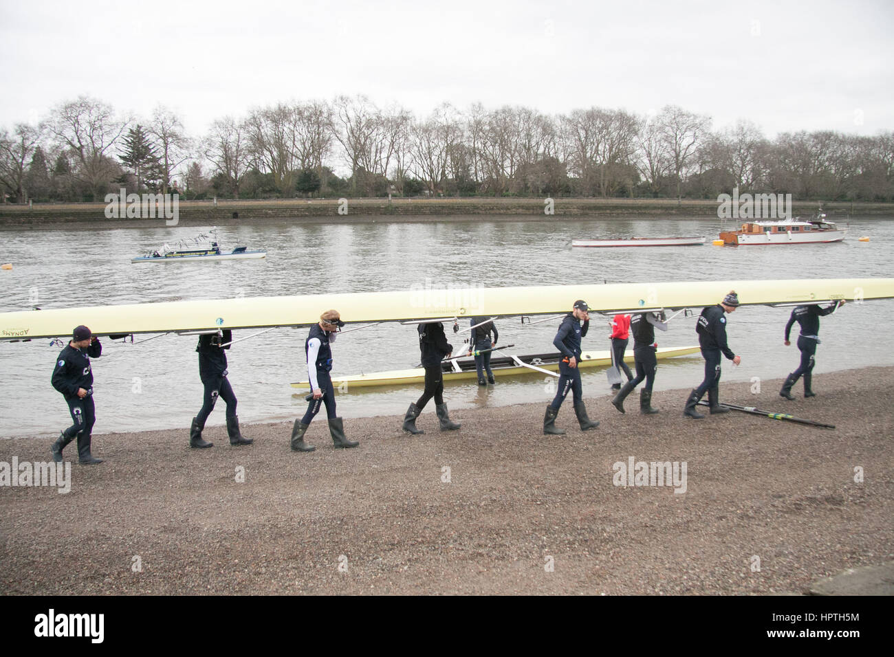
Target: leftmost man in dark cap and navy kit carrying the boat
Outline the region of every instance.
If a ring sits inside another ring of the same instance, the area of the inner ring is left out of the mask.
[[[69,442],[78,437],[78,462],[82,465],[102,463],[90,453],[90,432],[96,422],[96,408],[93,404],[93,371],[90,358],[99,358],[103,347],[87,326],[78,326],[72,332],[72,340],[56,358],[53,370],[53,387],[62,392],[68,403],[74,424],[56,439],[50,447],[53,460],[62,462],[62,451]]]

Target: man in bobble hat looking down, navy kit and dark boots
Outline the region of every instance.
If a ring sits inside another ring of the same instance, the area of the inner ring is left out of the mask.
[[[686,409],[683,415],[693,417],[696,420],[704,418],[704,415],[696,410],[696,404],[708,393],[708,405],[712,414],[728,413],[730,409],[718,403],[718,383],[721,380],[721,353],[738,365],[741,358],[736,356],[727,344],[726,339],[726,314],[738,307],[738,295],[736,291],[730,291],[721,303],[712,307],[705,307],[698,317],[696,333],[698,344],[702,348],[704,358],[704,381],[696,390],[689,393],[686,400]]]

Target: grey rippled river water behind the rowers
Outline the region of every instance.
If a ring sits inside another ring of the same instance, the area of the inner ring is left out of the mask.
[[[105,304],[145,303],[237,296],[319,294],[408,290],[426,281],[434,288],[503,287],[593,282],[840,278],[894,276],[894,217],[849,220],[848,239],[829,245],[721,248],[711,246],[716,221],[616,219],[543,222],[468,222],[304,224],[266,223],[230,226],[221,231],[224,246],[236,243],[266,248],[264,260],[207,263],[131,264],[162,243],[193,237],[195,227],[156,223],[138,229],[27,230],[3,232],[0,261],[0,312]],[[662,237],[699,235],[704,247],[574,248],[583,237]],[[869,236],[868,242],[857,240]],[[574,299],[569,299],[569,305]],[[321,308],[321,311],[324,308]],[[339,308],[350,316],[350,308]],[[861,366],[894,365],[894,354],[881,335],[894,301],[848,304],[822,319],[814,389],[822,392],[822,372]],[[797,367],[794,344],[782,336],[790,308],[742,307],[729,316],[730,345],[742,365],[723,361],[723,380],[780,378]],[[697,344],[695,318],[679,317],[660,346]],[[552,351],[559,320],[522,327],[519,320],[498,321],[500,342],[515,353]],[[452,333],[449,327],[448,340]],[[794,331],[797,334],[797,326]],[[239,339],[256,333],[240,331]],[[292,419],[303,415],[306,392],[289,383],[306,378],[307,329],[277,329],[234,344],[228,353],[230,381],[239,398],[242,423]],[[609,348],[607,323],[593,316],[585,350]],[[468,333],[464,335],[468,336]],[[137,336],[136,341],[146,336]],[[182,427],[184,441],[191,417],[201,407],[197,339],[168,335],[142,344],[103,340],[102,358],[93,360],[97,404],[95,433]],[[632,341],[631,341],[632,342]],[[459,341],[453,339],[454,344]],[[71,423],[62,396],[50,385],[61,347],[48,340],[0,342],[4,393],[0,395],[0,436],[56,435]],[[416,366],[417,332],[413,326],[381,324],[348,333],[333,344],[333,375],[370,373]],[[683,399],[660,392],[690,388],[701,381],[703,361],[694,357],[660,361],[654,403],[682,409]],[[609,392],[602,368],[584,371],[586,398]],[[446,383],[454,419],[462,409],[541,402],[552,398],[554,379],[545,375],[498,378],[479,388],[475,380]],[[800,385],[800,384],[799,384]],[[402,414],[416,400],[421,384],[339,393],[343,417]],[[721,391],[722,395],[722,391]],[[679,395],[678,395],[679,396]],[[591,401],[591,417],[611,409]],[[611,412],[615,412],[611,409]],[[434,408],[426,409],[434,414]],[[223,425],[219,402],[208,425]],[[395,427],[397,430],[398,427]],[[321,429],[322,430],[322,429]],[[250,435],[250,434],[249,434]],[[283,442],[288,439],[283,434]]]

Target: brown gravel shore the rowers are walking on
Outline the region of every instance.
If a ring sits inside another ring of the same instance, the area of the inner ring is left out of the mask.
[[[210,450],[186,427],[96,435],[107,460],[72,464],[70,493],[0,486],[0,593],[803,593],[891,560],[894,367],[817,375],[811,400],[780,385],[721,382],[721,401],[837,428],[684,419],[688,391],[656,392],[651,417],[634,392],[621,415],[591,387],[602,424],[579,431],[568,400],[564,436],[542,434],[540,403],[456,411],[441,432],[434,402],[424,435],[345,420],[354,450],[333,449],[322,413],[307,454],[291,423],[243,425],[255,444],[238,448],[210,427]],[[0,462],[49,460],[49,444],[0,441]],[[615,485],[630,457],[685,461],[686,492]]]

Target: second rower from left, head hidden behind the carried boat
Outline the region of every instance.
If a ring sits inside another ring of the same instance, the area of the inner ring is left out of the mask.
[[[202,431],[211,411],[215,409],[217,398],[226,402],[226,433],[231,445],[250,445],[254,440],[245,438],[239,430],[239,417],[236,417],[236,394],[232,392],[230,379],[227,378],[226,354],[230,349],[232,331],[224,330],[220,334],[212,333],[198,336],[198,377],[202,380],[205,392],[202,397],[202,408],[192,418],[190,425],[190,447],[214,447],[214,442],[202,438]],[[221,346],[225,345],[225,346]]]

